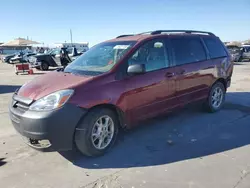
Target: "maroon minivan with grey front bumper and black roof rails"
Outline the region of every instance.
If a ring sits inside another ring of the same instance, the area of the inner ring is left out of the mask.
[[[233,63],[210,32],[157,30],[97,44],[13,95],[10,119],[38,149],[104,154],[119,128],[203,100],[221,109]]]

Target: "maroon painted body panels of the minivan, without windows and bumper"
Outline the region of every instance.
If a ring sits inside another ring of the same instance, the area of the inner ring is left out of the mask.
[[[231,77],[231,60],[219,58],[203,62],[173,66],[137,76],[117,79],[121,64],[145,41],[171,37],[167,35],[135,35],[110,41],[136,40],[137,44],[106,74],[84,77],[63,72],[40,76],[22,87],[18,95],[37,100],[61,89],[73,88],[69,103],[82,108],[112,105],[124,114],[125,123],[131,126],[139,120],[154,117],[196,100],[206,99],[209,88],[218,79]]]

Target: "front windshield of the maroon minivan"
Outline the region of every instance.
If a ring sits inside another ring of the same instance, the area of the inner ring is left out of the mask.
[[[135,43],[117,41],[98,44],[74,60],[64,71],[83,75],[108,72]]]

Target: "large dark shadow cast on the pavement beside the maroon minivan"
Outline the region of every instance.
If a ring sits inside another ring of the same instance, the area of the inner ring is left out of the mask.
[[[60,154],[76,166],[105,169],[168,164],[232,150],[250,144],[249,102],[248,92],[228,93],[220,112],[204,113],[200,106],[189,106],[141,123],[122,133],[104,156],[89,158],[76,151]]]

